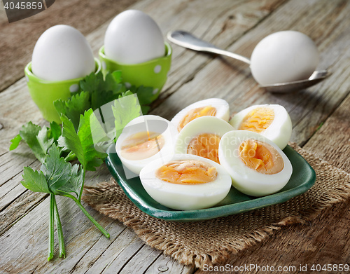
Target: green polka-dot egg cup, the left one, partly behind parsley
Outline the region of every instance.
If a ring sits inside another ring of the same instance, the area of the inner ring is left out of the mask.
[[[101,63],[97,58],[95,61],[95,74],[101,70]],[[31,99],[34,101],[43,118],[45,120],[56,123],[61,123],[59,114],[57,113],[53,102],[58,99],[67,100],[71,97],[71,93],[79,89],[79,81],[83,79],[75,78],[65,81],[47,81],[38,78],[31,72],[31,62],[25,67],[25,78],[29,88]]]

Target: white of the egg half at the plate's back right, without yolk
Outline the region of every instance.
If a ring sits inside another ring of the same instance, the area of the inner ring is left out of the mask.
[[[267,137],[274,142],[280,149],[284,149],[292,136],[292,121],[286,109],[279,104],[258,104],[239,111],[230,120],[230,124],[238,129],[244,117],[258,107],[266,107],[274,110],[274,121],[269,127],[260,132],[260,135]]]

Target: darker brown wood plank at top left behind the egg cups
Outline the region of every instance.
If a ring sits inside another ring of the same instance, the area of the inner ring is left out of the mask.
[[[36,40],[49,27],[71,25],[86,35],[136,1],[55,1],[47,11],[10,24],[1,13],[0,91],[24,76],[24,68],[31,60]],[[1,8],[1,11],[4,9]]]

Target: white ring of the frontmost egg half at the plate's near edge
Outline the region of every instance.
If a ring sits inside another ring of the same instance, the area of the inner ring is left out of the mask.
[[[155,172],[172,160],[201,160],[216,167],[218,175],[205,184],[172,184],[155,177]],[[230,191],[231,177],[221,165],[212,160],[190,154],[175,154],[148,163],[140,172],[142,186],[161,205],[175,210],[200,210],[221,202]]]

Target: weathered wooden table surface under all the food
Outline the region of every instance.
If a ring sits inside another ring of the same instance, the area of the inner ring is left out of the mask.
[[[87,36],[97,55],[111,18],[127,8],[151,15],[164,34],[184,29],[246,56],[272,32],[294,29],[309,35],[321,52],[318,69],[328,68],[332,75],[313,88],[283,95],[260,89],[246,64],[173,45],[172,69],[152,113],[172,118],[186,105],[207,97],[227,100],[231,112],[251,104],[281,104],[293,121],[293,142],[350,172],[350,1],[60,0],[47,11],[11,24],[1,6],[0,273],[202,273],[148,247],[130,228],[85,205],[111,234],[111,239],[104,238],[78,207],[61,197],[57,200],[66,259],[57,257],[56,246],[55,258],[48,262],[48,196],[27,191],[20,184],[23,167],[38,169],[38,160],[25,145],[8,151],[10,139],[22,124],[46,123],[31,101],[23,78],[23,69],[41,33],[52,25],[72,25]],[[87,184],[108,178],[109,172],[102,167],[90,174]],[[324,210],[309,224],[281,228],[227,263],[350,263],[349,220],[348,200]]]

